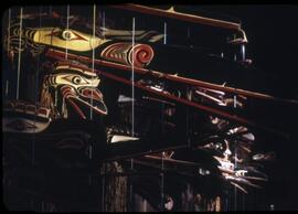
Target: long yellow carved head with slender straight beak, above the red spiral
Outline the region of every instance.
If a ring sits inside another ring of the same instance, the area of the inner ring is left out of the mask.
[[[99,28],[100,29],[100,28]],[[97,30],[98,31],[98,30]],[[45,46],[53,46],[74,52],[88,52],[111,40],[131,41],[131,31],[102,28],[93,36],[72,28],[29,28],[14,22],[8,29],[4,44],[9,43],[10,51],[18,53],[28,50],[33,55],[42,53]],[[103,32],[105,36],[103,36]],[[155,31],[136,31],[136,41],[158,42],[162,34]]]

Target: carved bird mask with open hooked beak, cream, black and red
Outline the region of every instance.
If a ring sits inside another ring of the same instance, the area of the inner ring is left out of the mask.
[[[52,109],[54,117],[68,118],[71,108],[83,119],[92,111],[107,115],[103,94],[97,88],[99,82],[89,69],[58,65],[44,77],[41,103]]]

